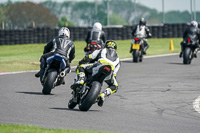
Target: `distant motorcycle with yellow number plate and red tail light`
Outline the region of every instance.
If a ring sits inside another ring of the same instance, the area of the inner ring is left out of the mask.
[[[142,62],[144,41],[142,38],[135,38],[132,40],[131,51],[133,55],[133,62]]]

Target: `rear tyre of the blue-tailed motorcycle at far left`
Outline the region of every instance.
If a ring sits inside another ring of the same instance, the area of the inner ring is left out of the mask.
[[[57,71],[52,70],[48,72],[47,77],[44,81],[42,93],[45,95],[49,95],[51,93],[52,88],[54,87],[54,82],[57,77]]]

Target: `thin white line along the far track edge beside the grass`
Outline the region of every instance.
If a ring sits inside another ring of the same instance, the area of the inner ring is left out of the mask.
[[[155,57],[165,57],[165,56],[172,56],[172,55],[178,55],[178,53],[174,54],[163,54],[163,55],[153,55],[153,56],[144,56],[144,58],[155,58]],[[132,58],[126,58],[126,59],[120,59],[120,61],[127,61],[132,60]],[[76,68],[76,66],[72,66],[71,68]],[[19,73],[27,73],[27,72],[38,72],[39,70],[32,70],[32,71],[19,71],[19,72],[3,72],[0,73],[1,75],[8,75],[8,74],[19,74]]]

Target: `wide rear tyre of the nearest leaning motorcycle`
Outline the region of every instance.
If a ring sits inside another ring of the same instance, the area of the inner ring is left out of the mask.
[[[81,111],[88,111],[92,105],[96,102],[101,91],[101,84],[97,81],[92,82],[92,86],[88,94],[80,100],[79,109]]]

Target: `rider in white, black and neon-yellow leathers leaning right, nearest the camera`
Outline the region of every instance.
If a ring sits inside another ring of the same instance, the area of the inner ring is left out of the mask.
[[[84,84],[86,75],[92,74],[92,71],[98,69],[99,65],[111,65],[113,73],[105,79],[108,87],[98,97],[98,106],[100,107],[103,106],[105,98],[115,93],[118,89],[116,75],[120,68],[120,61],[116,49],[116,42],[109,40],[106,41],[104,49],[95,50],[92,54],[86,55],[81,61],[79,61],[75,83],[71,85],[71,88],[76,91]],[[95,60],[96,62],[88,63],[91,60]]]

